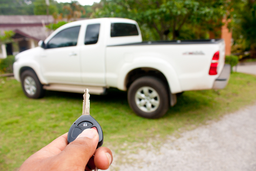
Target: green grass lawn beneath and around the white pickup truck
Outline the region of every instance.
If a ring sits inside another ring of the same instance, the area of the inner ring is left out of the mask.
[[[104,144],[146,142],[150,138],[189,130],[256,100],[256,76],[233,73],[224,90],[191,91],[160,119],[136,116],[126,92],[91,95],[91,115],[100,123]],[[15,170],[30,155],[68,132],[82,113],[82,94],[47,91],[29,99],[14,79],[0,78],[0,170]],[[104,145],[103,144],[103,145]]]

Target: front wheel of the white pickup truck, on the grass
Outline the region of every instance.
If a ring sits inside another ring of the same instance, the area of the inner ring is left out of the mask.
[[[41,98],[45,95],[45,90],[42,89],[42,84],[37,78],[35,72],[26,70],[21,75],[23,92],[29,98]]]

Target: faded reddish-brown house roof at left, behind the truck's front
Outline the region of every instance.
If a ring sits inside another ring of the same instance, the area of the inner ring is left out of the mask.
[[[0,15],[0,31],[15,33],[35,40],[44,40],[50,34],[44,25],[54,22],[51,15]]]

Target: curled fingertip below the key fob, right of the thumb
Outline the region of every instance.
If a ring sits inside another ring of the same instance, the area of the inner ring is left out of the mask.
[[[113,155],[109,148],[100,147],[96,149],[94,154],[94,163],[97,168],[105,170],[108,169],[113,161]]]

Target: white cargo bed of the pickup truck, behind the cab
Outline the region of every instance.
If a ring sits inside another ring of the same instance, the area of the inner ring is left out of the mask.
[[[218,74],[209,75],[212,57],[217,51],[220,53]],[[223,39],[148,41],[108,46],[106,82],[110,87],[114,87],[121,77],[120,74],[126,72],[120,72],[121,70],[129,72],[135,67],[146,67],[163,73],[171,83],[170,90],[174,94],[182,91],[207,90],[212,89],[215,79],[224,67],[224,60]],[[118,88],[122,90],[120,87]]]

